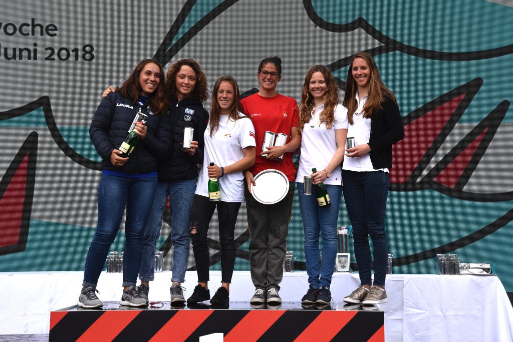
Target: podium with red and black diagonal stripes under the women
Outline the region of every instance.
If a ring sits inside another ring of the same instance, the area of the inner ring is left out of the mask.
[[[108,301],[101,309],[73,306],[50,313],[50,341],[204,339],[378,342],[385,340],[384,312],[379,305],[345,303],[305,307],[285,302],[254,307],[235,301],[222,308],[206,304],[172,307],[169,301],[156,301],[148,308],[131,308]]]

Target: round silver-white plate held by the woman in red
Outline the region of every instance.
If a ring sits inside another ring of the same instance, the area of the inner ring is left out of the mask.
[[[280,170],[264,170],[254,179],[256,186],[251,184],[251,194],[262,204],[278,203],[287,195],[289,181]]]

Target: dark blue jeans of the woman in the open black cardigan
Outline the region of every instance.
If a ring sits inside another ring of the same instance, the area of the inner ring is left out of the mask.
[[[385,210],[390,188],[388,172],[342,170],[342,180],[361,285],[371,285],[370,236],[374,247],[374,285],[385,286],[388,258]]]

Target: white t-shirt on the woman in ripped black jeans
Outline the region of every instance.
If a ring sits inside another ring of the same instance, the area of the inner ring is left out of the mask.
[[[205,130],[205,154],[203,167],[198,176],[196,194],[208,197],[208,166],[214,163],[220,167],[234,164],[244,157],[243,148],[255,146],[254,128],[251,120],[239,113],[238,120],[229,120],[221,115],[219,127],[210,136],[210,125]],[[223,202],[242,202],[244,198],[243,171],[229,173],[219,178],[221,200]]]

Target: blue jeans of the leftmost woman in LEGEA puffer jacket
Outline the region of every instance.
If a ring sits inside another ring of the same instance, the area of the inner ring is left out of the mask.
[[[82,286],[96,288],[110,245],[120,228],[125,207],[127,214],[122,286],[135,286],[141,266],[144,226],[153,203],[156,185],[156,177],[102,175],[98,186],[98,223],[87,252]]]

